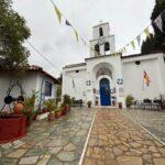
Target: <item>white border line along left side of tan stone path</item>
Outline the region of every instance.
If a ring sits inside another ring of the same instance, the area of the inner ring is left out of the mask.
[[[78,165],[82,165],[82,161],[84,161],[86,150],[87,150],[87,146],[88,146],[88,141],[89,141],[89,138],[90,138],[91,129],[92,129],[92,125],[94,125],[94,122],[95,122],[96,113],[97,113],[97,110],[94,114],[94,118],[92,118],[92,121],[91,121],[91,124],[90,124],[90,128],[89,128],[89,131],[88,131],[88,134],[87,134],[86,143],[85,143],[85,146],[84,146],[84,150],[82,150],[82,153],[81,153]]]

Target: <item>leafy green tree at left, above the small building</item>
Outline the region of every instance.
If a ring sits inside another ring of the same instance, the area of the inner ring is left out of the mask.
[[[30,36],[25,20],[12,9],[12,0],[0,0],[0,68],[22,69],[28,66],[28,50],[23,46]]]

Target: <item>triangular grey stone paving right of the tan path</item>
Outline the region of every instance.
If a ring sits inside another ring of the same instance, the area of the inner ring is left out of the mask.
[[[131,109],[124,112],[165,143],[165,111]]]

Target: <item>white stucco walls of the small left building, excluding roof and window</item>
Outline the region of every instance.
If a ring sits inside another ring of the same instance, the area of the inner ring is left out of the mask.
[[[50,77],[47,77],[43,74],[38,74],[37,72],[36,73],[35,72],[28,72],[23,78],[15,79],[11,75],[8,75],[7,73],[0,72],[0,109],[3,106],[3,99],[7,96],[7,91],[8,91],[9,87],[11,85],[13,85],[16,80],[19,80],[19,82],[22,85],[25,97],[32,96],[32,90],[38,92],[37,94],[38,97],[37,97],[36,102],[35,102],[36,106],[40,102],[41,92],[44,94],[45,80],[53,84],[52,97],[47,97],[47,98],[55,98],[56,86]],[[44,80],[43,86],[42,86],[42,80]],[[42,91],[41,91],[41,89],[42,89]],[[11,96],[12,97],[20,96],[20,89],[18,87],[14,87],[11,90]]]

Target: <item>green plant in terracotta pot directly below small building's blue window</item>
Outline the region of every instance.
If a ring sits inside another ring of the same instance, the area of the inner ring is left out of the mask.
[[[54,110],[56,108],[55,99],[45,100],[44,106],[46,107],[47,111],[50,112],[47,114],[48,121],[53,121],[54,120]]]

